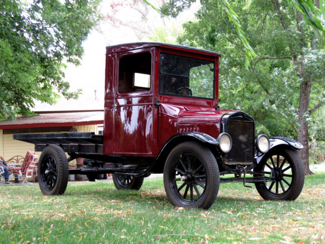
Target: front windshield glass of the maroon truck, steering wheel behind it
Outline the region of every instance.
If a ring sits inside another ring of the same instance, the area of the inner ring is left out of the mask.
[[[159,93],[214,99],[214,62],[160,53]]]

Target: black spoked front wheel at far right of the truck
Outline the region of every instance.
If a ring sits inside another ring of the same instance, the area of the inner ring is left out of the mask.
[[[303,163],[297,151],[290,148],[271,149],[254,171],[257,177],[273,178],[255,183],[257,192],[265,200],[295,200],[304,187]]]

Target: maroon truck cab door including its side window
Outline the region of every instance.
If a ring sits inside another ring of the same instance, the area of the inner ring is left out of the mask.
[[[152,49],[117,53],[113,154],[153,154]]]

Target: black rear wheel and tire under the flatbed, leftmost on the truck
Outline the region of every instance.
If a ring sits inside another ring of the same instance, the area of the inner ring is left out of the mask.
[[[61,147],[49,145],[44,148],[39,159],[38,179],[44,195],[62,195],[66,191],[69,164]]]

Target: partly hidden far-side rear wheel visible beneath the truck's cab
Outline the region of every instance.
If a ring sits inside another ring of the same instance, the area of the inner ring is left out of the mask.
[[[143,177],[122,174],[112,174],[112,178],[117,190],[140,190],[144,180]]]

